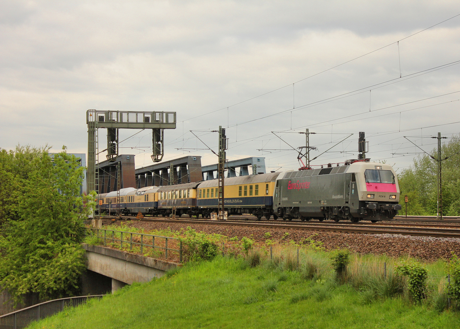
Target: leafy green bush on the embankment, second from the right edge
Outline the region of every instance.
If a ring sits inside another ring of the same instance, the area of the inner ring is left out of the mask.
[[[418,262],[402,262],[402,265],[395,269],[399,275],[407,275],[408,290],[415,301],[426,298],[426,278],[428,271]]]

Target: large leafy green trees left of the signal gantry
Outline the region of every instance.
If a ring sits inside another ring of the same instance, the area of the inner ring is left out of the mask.
[[[94,206],[80,186],[83,167],[65,151],[0,151],[0,286],[16,301],[72,295],[84,270],[82,220]]]

